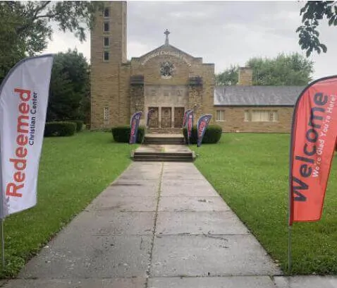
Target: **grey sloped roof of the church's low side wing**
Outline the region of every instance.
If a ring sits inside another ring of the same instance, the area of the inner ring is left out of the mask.
[[[293,106],[305,86],[218,86],[215,106]]]

